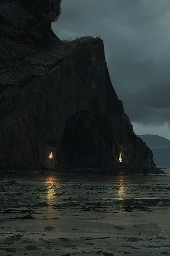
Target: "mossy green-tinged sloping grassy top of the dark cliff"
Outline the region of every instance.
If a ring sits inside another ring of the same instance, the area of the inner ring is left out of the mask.
[[[98,46],[98,50],[104,51],[103,41],[100,38],[81,37],[74,41],[60,41],[51,49],[42,49],[33,55],[28,52],[24,58],[9,59],[2,63],[0,82],[6,86],[22,86],[22,80],[28,76],[43,75],[63,61],[65,58],[73,58],[78,51]],[[93,50],[93,49],[92,49]]]

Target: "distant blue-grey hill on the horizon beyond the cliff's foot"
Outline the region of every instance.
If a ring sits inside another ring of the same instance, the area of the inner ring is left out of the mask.
[[[170,167],[170,140],[158,135],[137,135],[152,149],[157,166]]]

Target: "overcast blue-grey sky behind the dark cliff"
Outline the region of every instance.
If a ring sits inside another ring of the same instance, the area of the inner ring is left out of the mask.
[[[137,134],[170,139],[170,0],[62,0],[60,39],[99,36]]]

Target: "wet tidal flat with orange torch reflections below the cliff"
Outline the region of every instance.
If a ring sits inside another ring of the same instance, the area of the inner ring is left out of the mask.
[[[0,171],[0,255],[170,255],[165,175]]]

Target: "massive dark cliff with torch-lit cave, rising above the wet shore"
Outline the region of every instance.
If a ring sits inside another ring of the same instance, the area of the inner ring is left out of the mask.
[[[60,0],[0,5],[0,167],[154,169],[112,86],[103,41],[59,41],[51,21]]]

